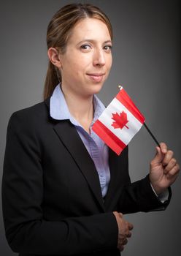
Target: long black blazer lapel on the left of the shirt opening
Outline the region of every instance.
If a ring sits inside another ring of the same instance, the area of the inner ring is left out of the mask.
[[[104,202],[101,195],[101,187],[96,167],[74,125],[72,125],[69,120],[63,120],[58,121],[53,129],[74,158],[74,161],[77,163],[83,176],[85,176],[93,195],[95,195],[96,200],[104,211]]]

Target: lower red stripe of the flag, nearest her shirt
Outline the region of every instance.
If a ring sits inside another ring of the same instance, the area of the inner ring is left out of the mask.
[[[114,135],[107,127],[105,127],[104,124],[101,123],[101,121],[97,120],[92,127],[93,131],[96,132],[99,137],[104,140],[104,142],[109,146],[109,148],[112,148],[113,151],[115,151],[118,155],[121,151],[123,151],[123,148],[126,147],[126,144],[123,143],[122,140],[120,140],[117,136]]]

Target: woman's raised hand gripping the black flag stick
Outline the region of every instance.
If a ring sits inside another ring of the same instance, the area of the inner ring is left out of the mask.
[[[167,149],[165,143],[156,147],[156,154],[150,162],[150,182],[157,194],[171,186],[179,175],[180,166],[174,158],[174,152]]]

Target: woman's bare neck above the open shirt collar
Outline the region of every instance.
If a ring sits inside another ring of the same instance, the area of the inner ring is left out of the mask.
[[[93,121],[93,95],[82,97],[62,88],[71,115],[90,133],[90,124]]]

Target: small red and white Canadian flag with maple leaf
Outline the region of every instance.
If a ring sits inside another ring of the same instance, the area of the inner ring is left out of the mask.
[[[101,113],[92,129],[119,155],[144,122],[145,117],[121,87],[120,92]]]

